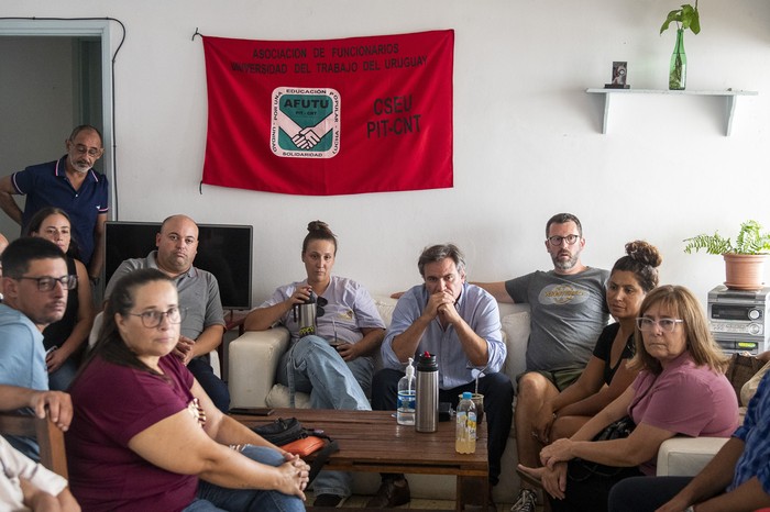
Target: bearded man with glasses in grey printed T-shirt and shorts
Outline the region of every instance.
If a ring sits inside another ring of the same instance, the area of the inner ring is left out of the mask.
[[[546,251],[553,260],[553,270],[538,270],[505,282],[476,283],[499,302],[527,302],[531,307],[527,370],[518,377],[514,420],[518,458],[525,466],[539,465],[539,454],[522,439],[535,435],[532,421],[540,405],[547,397],[578,380],[609,318],[605,297],[609,272],[583,265],[583,247],[580,220],[571,213],[558,213],[546,224]],[[510,510],[535,512],[535,490],[522,480]]]

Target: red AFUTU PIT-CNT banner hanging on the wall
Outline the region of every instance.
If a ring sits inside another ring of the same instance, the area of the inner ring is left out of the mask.
[[[306,196],[452,187],[454,31],[204,37],[202,182]]]

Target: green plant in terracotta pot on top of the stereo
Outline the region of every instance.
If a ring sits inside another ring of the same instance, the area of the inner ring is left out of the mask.
[[[684,252],[704,249],[708,254],[721,254],[725,258],[725,286],[735,290],[759,290],[762,288],[765,263],[770,255],[770,233],[762,232],[757,221],[740,224],[735,238],[725,238],[719,233],[701,234],[685,238]]]

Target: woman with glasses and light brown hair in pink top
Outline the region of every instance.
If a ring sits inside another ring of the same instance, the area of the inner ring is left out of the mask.
[[[736,393],[724,375],[727,358],[690,290],[652,290],[641,303],[636,329],[630,368],[639,375],[634,383],[570,438],[546,446],[540,452],[544,468],[520,467],[542,478],[553,511],[605,511],[617,481],[654,475],[663,441],[727,437],[738,425]],[[595,441],[625,416],[632,420],[627,437]]]

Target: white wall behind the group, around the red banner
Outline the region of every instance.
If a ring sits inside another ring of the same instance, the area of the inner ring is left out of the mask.
[[[116,68],[120,219],[186,212],[253,224],[256,303],[304,277],[300,243],[314,219],[340,237],[337,274],[387,292],[418,281],[417,255],[437,242],[466,252],[474,280],[549,268],[543,227],[559,211],[582,219],[587,265],[608,267],[625,242],[647,238],[663,252],[662,280],[705,301],[724,279],[721,258],[684,255],[681,240],[733,233],[748,218],[770,227],[770,2],[704,0],[702,33],[685,35],[689,89],[760,91],[739,100],[732,137],[724,100],[657,94],[614,99],[602,135],[598,99],[584,92],[609,80],[613,60],[628,60],[634,88],[666,88],[675,34],[658,29],[680,3],[30,0],[3,1],[3,15],[125,23]],[[454,29],[454,188],[292,197],[204,187],[199,194],[207,107],[196,27],[264,40]],[[41,151],[41,160],[58,153]]]

